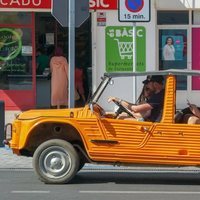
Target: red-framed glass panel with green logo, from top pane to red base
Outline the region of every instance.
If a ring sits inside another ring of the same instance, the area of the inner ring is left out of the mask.
[[[35,107],[34,14],[1,13],[0,99],[6,110]]]

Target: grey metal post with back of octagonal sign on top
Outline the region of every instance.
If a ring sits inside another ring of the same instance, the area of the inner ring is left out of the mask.
[[[63,27],[68,27],[69,52],[69,108],[74,107],[75,94],[75,27],[89,17],[88,0],[52,0],[52,15]]]

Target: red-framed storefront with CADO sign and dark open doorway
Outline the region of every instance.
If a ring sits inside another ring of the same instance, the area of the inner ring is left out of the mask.
[[[50,79],[37,69],[38,51],[51,58],[59,46],[68,57],[68,30],[51,15],[51,0],[0,1],[0,100],[6,110],[50,108]],[[91,72],[90,18],[76,28],[76,60]],[[77,64],[77,63],[76,63]]]

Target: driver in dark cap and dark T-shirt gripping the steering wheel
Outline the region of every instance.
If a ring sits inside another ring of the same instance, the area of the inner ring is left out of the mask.
[[[147,88],[153,93],[146,102],[134,105],[130,104],[129,102],[126,102],[122,99],[116,98],[116,97],[110,97],[108,99],[108,102],[111,101],[117,101],[122,106],[127,107],[134,116],[136,116],[138,113],[142,115],[142,113],[151,112],[150,116],[145,118],[146,121],[152,121],[152,122],[159,122],[162,117],[162,111],[163,111],[163,104],[164,104],[164,87],[163,87],[163,76],[160,75],[153,75],[148,76],[143,83],[146,85]]]

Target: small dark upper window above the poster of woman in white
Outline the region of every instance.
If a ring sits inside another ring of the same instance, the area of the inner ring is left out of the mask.
[[[158,11],[157,24],[189,24],[188,11]]]

